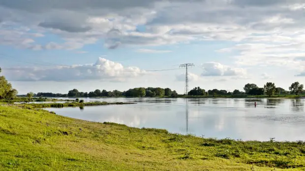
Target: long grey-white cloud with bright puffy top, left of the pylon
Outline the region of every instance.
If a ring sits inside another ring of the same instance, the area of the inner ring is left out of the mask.
[[[138,67],[124,67],[121,63],[101,57],[94,64],[54,67],[12,67],[3,70],[3,75],[10,81],[124,81],[127,78],[140,77],[146,74],[146,71]]]

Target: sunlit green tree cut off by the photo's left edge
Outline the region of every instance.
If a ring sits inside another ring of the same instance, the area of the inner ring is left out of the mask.
[[[0,73],[1,73],[0,68]],[[18,91],[12,88],[12,85],[7,82],[4,76],[0,76],[0,99],[13,99]]]

